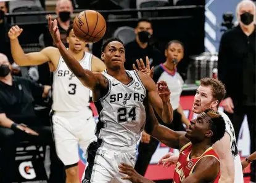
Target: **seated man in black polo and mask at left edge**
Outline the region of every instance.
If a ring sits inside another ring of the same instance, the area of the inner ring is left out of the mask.
[[[28,140],[51,146],[51,176],[49,182],[65,182],[64,166],[56,155],[51,127],[43,126],[36,117],[34,103],[47,98],[51,87],[10,74],[7,56],[0,54],[0,182],[13,182],[16,147]],[[31,128],[24,127],[29,125]],[[29,134],[38,135],[31,136]]]

